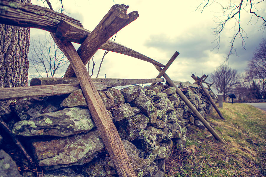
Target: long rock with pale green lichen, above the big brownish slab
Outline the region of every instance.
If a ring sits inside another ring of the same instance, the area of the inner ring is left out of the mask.
[[[13,133],[22,136],[51,135],[65,137],[86,132],[95,127],[88,109],[65,108],[41,114],[14,125]]]

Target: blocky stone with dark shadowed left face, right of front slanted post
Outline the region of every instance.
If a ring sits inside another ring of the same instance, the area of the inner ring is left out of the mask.
[[[136,139],[140,132],[142,132],[149,122],[149,118],[140,113],[135,116],[129,117],[118,121],[118,132],[121,139],[132,141]]]

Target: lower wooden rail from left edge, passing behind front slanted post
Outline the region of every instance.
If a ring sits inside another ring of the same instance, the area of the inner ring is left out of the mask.
[[[94,83],[97,90],[105,90],[106,83]],[[79,83],[0,88],[0,100],[69,94],[80,89]]]

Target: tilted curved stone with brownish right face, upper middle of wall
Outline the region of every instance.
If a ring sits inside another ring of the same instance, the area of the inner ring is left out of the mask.
[[[153,106],[150,99],[147,96],[139,96],[133,101],[133,105],[141,110],[143,114],[149,117],[151,120],[156,120],[157,118],[157,110]],[[151,122],[152,123],[152,122]]]

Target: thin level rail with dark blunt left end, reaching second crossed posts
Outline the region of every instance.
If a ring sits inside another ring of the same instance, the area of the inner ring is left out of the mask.
[[[104,82],[106,87],[127,86],[142,83],[163,82],[163,78],[154,79],[113,79],[113,78],[91,78],[93,83]],[[77,78],[33,78],[30,81],[30,86],[36,85],[54,85],[66,83],[79,83]]]

